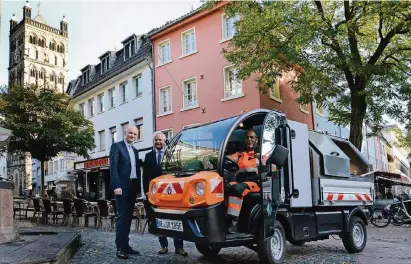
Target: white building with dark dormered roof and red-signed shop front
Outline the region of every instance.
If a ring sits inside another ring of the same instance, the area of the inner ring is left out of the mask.
[[[154,133],[153,76],[151,44],[136,35],[125,39],[119,51],[101,55],[100,64],[87,65],[82,75],[70,82],[71,104],[88,118],[95,128],[96,148],[90,160],[77,159],[74,173],[76,188],[85,198],[110,199],[109,154],[114,142],[124,140],[124,131],[134,125],[139,135],[134,146],[143,150],[152,147]]]

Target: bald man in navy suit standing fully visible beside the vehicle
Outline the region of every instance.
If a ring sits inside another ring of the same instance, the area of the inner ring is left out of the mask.
[[[116,255],[121,259],[127,259],[128,254],[140,254],[129,245],[134,204],[141,190],[138,150],[133,146],[137,135],[138,129],[135,126],[128,127],[124,140],[114,143],[110,149],[111,187],[117,207]]]

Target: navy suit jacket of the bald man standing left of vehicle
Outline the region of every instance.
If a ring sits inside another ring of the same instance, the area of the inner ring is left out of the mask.
[[[140,161],[138,150],[132,147],[136,158],[136,174],[137,179],[141,180]],[[128,154],[127,146],[124,141],[120,141],[111,145],[110,149],[110,178],[111,188],[113,190],[121,188],[123,195],[127,195],[130,187],[129,179],[131,174],[130,155]],[[140,190],[137,191],[140,193]]]

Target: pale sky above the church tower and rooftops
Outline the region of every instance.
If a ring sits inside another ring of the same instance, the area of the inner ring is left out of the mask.
[[[0,0],[0,86],[8,83],[9,21],[13,14],[21,21],[25,2]],[[104,52],[122,48],[121,41],[131,34],[146,33],[200,5],[199,0],[29,1],[32,18],[39,2],[49,26],[60,29],[63,15],[68,20],[69,80],[87,64],[99,63]]]

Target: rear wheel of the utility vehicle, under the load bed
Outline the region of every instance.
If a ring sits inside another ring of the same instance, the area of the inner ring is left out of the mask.
[[[362,252],[367,244],[367,229],[364,221],[357,216],[351,217],[348,232],[344,232],[341,238],[349,253]]]

